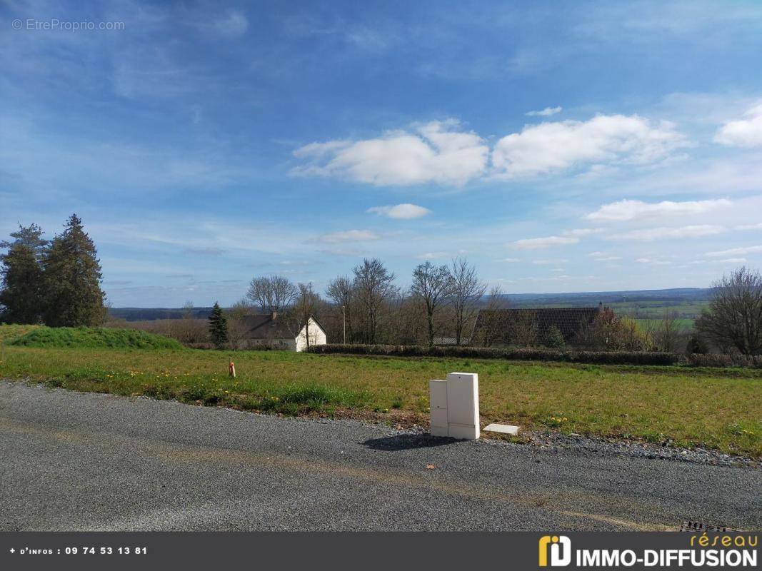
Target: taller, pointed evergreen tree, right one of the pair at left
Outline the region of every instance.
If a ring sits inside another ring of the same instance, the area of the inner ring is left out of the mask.
[[[105,317],[101,263],[95,244],[72,214],[43,259],[43,319],[51,327],[101,324]]]

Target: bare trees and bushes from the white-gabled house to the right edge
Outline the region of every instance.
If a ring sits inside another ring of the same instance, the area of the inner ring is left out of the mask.
[[[456,258],[449,265],[419,264],[407,289],[395,285],[395,279],[377,258],[363,260],[350,275],[331,279],[325,298],[311,285],[295,285],[283,276],[257,277],[237,307],[239,313],[251,305],[262,312],[296,311],[299,325],[314,314],[331,343],[495,346],[503,341],[497,334],[506,332],[516,346],[561,348],[566,343],[557,327],[540,332],[532,311],[519,316],[485,312],[485,319],[494,322],[472,339],[479,309],[504,309],[508,302],[499,286],[488,291],[466,259]],[[235,308],[232,314],[235,317]],[[714,283],[709,305],[693,330],[681,324],[677,311],[653,318],[604,308],[580,328],[572,343],[612,351],[757,355],[762,352],[762,276],[742,267]]]

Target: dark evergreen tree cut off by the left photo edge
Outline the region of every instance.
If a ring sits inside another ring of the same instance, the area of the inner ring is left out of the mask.
[[[0,321],[40,322],[43,308],[41,261],[48,245],[42,234],[42,228],[36,224],[19,225],[17,232],[11,232],[13,241],[0,242],[0,248],[8,249],[0,256]]]

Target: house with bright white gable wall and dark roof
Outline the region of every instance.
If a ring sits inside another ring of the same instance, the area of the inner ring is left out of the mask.
[[[244,315],[242,322],[242,349],[283,349],[304,351],[309,346],[327,343],[325,330],[315,320],[309,318],[306,326],[298,332],[292,321],[280,316],[277,311],[262,315]]]

